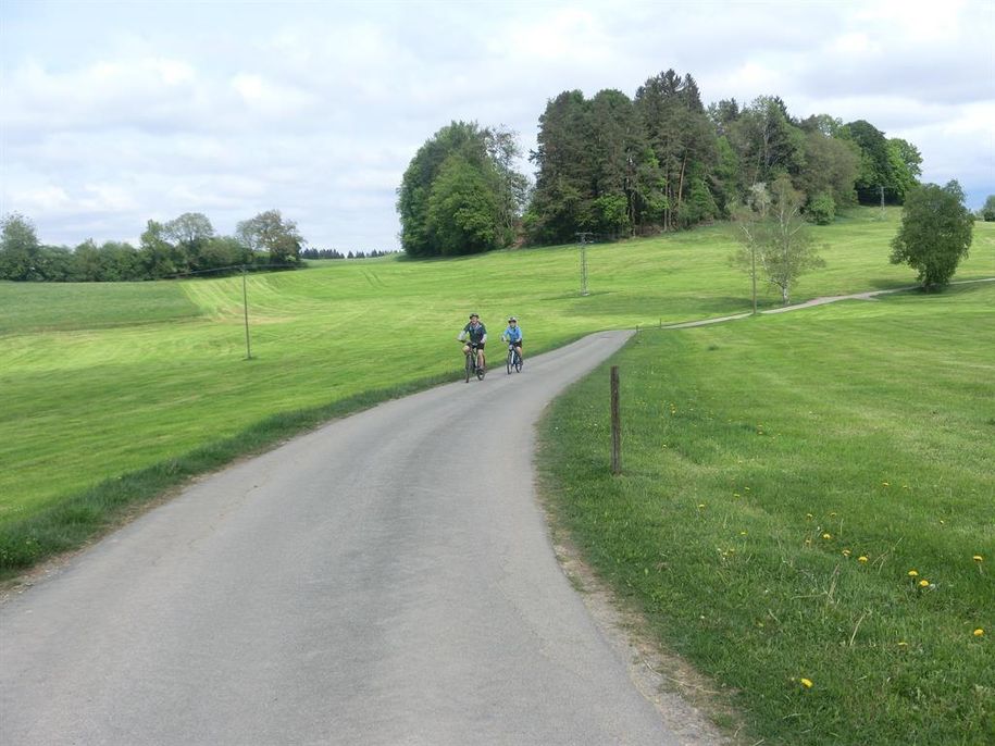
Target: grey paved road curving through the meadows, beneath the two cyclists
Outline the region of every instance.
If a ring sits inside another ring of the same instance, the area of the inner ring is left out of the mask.
[[[0,743],[677,743],[532,485],[534,420],[626,336],[332,423],[8,600]]]

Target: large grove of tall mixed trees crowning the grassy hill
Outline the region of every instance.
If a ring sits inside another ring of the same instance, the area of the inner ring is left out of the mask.
[[[453,122],[415,154],[398,189],[412,256],[650,235],[731,216],[757,184],[786,176],[804,212],[831,222],[854,204],[901,204],[921,175],[912,144],[863,120],[793,117],[776,96],[706,107],[673,70],[630,98],[580,90],[549,100],[528,158],[531,188],[510,167],[513,134]]]

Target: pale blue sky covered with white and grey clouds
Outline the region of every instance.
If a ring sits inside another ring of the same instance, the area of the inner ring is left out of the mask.
[[[977,209],[993,39],[993,0],[0,0],[0,216],[137,246],[149,220],[232,235],[276,209],[310,246],[396,249],[397,187],[439,128],[503,125],[527,156],[560,92],[633,97],[668,69],[706,105],[867,120]]]

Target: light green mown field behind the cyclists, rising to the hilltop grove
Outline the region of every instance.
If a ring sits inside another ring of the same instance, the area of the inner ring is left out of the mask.
[[[910,271],[886,260],[898,213],[879,217],[857,211],[817,228],[828,268],[804,277],[795,299],[908,285]],[[958,278],[995,274],[995,238],[979,227]],[[533,352],[598,328],[746,310],[748,283],[730,268],[732,250],[718,226],[596,246],[583,298],[573,247],[254,275],[250,361],[240,277],[0,283],[0,534],[272,415],[455,373],[452,339],[470,310],[492,330],[518,314]]]

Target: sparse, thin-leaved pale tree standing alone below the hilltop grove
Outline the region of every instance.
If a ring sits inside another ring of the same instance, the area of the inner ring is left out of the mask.
[[[756,279],[762,273],[781,291],[781,302],[791,302],[791,290],[806,272],[825,266],[819,257],[808,224],[801,217],[804,196],[794,189],[791,179],[782,176],[770,187],[770,204],[762,189],[755,189],[758,199],[749,214],[741,213],[738,221],[742,248],[733,263],[745,269]],[[755,299],[756,308],[756,299]]]

